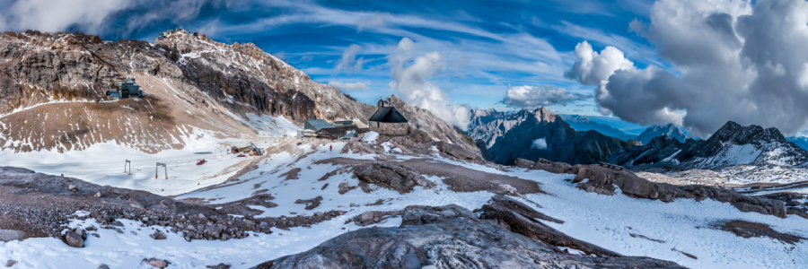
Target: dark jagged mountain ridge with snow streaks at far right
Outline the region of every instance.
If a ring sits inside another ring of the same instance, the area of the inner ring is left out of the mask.
[[[795,166],[808,161],[808,151],[788,142],[777,128],[740,126],[732,121],[707,140],[685,143],[658,136],[641,147],[614,154],[610,163],[624,166],[676,166],[681,169],[718,169],[733,165]]]

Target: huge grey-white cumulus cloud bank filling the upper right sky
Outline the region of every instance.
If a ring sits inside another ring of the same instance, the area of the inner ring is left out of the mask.
[[[585,68],[595,54],[579,44],[567,77],[596,85],[602,112],[639,124],[681,120],[701,137],[729,120],[786,134],[808,127],[808,2],[660,0],[650,22],[632,24],[672,70],[628,67],[625,57]],[[617,56],[607,49],[599,56]]]

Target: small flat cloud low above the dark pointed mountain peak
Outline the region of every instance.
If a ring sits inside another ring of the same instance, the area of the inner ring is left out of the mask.
[[[502,103],[510,108],[535,109],[550,105],[562,105],[576,100],[592,98],[592,95],[566,91],[553,85],[508,87]]]

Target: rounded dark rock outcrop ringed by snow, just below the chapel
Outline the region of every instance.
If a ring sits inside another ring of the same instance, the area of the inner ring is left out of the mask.
[[[373,162],[358,165],[354,175],[364,183],[388,188],[405,194],[412,191],[415,186],[434,187],[435,183],[409,169],[389,162]],[[360,185],[360,187],[362,187]],[[363,188],[364,189],[364,188]],[[365,190],[367,192],[367,190]]]

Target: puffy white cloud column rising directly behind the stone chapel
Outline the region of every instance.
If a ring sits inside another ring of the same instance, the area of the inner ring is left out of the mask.
[[[401,100],[410,106],[425,108],[443,118],[447,123],[468,129],[470,124],[470,110],[468,107],[454,105],[446,91],[429,82],[437,72],[446,68],[437,52],[430,52],[422,56],[415,56],[416,44],[412,39],[404,38],[399,41],[395,52],[388,56],[391,65],[390,76],[393,80],[390,87],[400,93]],[[413,59],[413,57],[415,57]]]

